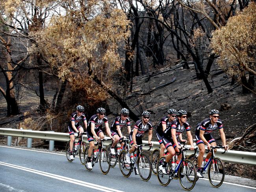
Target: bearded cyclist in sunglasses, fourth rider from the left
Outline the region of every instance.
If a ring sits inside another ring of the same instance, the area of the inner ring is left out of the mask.
[[[132,148],[130,151],[126,154],[126,162],[131,163],[131,154],[137,149],[138,145],[142,144],[142,135],[146,131],[148,131],[148,144],[150,146],[153,146],[151,139],[152,139],[152,133],[153,133],[153,125],[149,121],[150,113],[148,111],[143,111],[142,113],[142,119],[138,120],[135,125],[134,129],[130,132],[129,139],[130,144],[132,144]],[[136,174],[139,174],[137,172],[137,169],[135,169]]]

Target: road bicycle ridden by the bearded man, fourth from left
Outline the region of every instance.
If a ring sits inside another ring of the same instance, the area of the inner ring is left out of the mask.
[[[136,169],[139,172],[139,175],[141,176],[141,179],[143,181],[148,181],[151,177],[151,162],[148,157],[148,155],[145,154],[145,152],[141,152],[143,146],[150,146],[149,144],[141,144],[138,145],[137,150],[134,151],[133,157],[131,158],[131,163],[129,164],[126,161],[126,154],[128,153],[126,150],[122,150],[119,155],[119,168],[121,170],[121,173],[124,175],[124,177],[129,177],[131,173],[134,171],[135,175]],[[151,146],[149,150],[151,149]],[[149,151],[148,150],[148,151]]]

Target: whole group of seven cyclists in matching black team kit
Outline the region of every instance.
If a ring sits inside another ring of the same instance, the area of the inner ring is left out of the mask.
[[[110,128],[108,124],[108,118],[106,116],[106,110],[102,107],[96,110],[96,114],[91,116],[90,120],[87,122],[85,114],[83,113],[84,107],[78,105],[76,107],[76,112],[72,113],[68,129],[70,135],[70,149],[73,149],[74,143],[74,133],[81,134],[84,132],[83,127],[80,126],[79,122],[83,121],[85,125],[85,129],[87,131],[87,138],[89,142],[89,151],[88,151],[88,161],[87,167],[92,168],[91,164],[91,155],[94,149],[94,139],[98,142],[99,139],[104,138],[104,133],[102,132],[101,128],[102,125],[105,124],[106,133],[108,136],[113,140],[111,146],[111,154],[115,155],[114,147],[115,145],[120,142],[122,138],[126,138],[122,135],[122,127],[126,126],[130,144],[132,148],[126,154],[126,161],[127,163],[131,163],[131,155],[137,149],[138,145],[142,144],[142,135],[145,132],[148,132],[148,144],[152,146],[152,135],[153,135],[153,124],[150,122],[150,112],[143,111],[142,118],[138,120],[134,128],[131,130],[130,119],[128,118],[129,110],[123,108],[121,110],[120,116],[117,116],[115,120],[112,122]],[[199,155],[197,160],[197,176],[202,178],[202,161],[203,156],[205,153],[205,145],[207,146],[208,150],[210,150],[211,146],[217,146],[214,138],[211,135],[211,132],[215,129],[219,129],[221,140],[225,150],[228,150],[228,146],[226,145],[226,137],[223,131],[223,125],[221,120],[219,119],[219,111],[216,109],[212,109],[209,113],[209,118],[206,118],[202,122],[198,123],[195,130],[195,139],[199,149]],[[190,150],[194,150],[193,145],[193,137],[191,134],[191,127],[187,123],[187,112],[184,110],[176,111],[175,109],[169,109],[167,111],[167,116],[161,118],[158,122],[158,126],[156,128],[156,137],[158,138],[158,142],[160,144],[160,158],[164,155],[164,150],[167,149],[168,153],[166,155],[165,161],[161,164],[160,169],[164,174],[166,174],[166,166],[167,163],[172,159],[172,157],[180,152],[180,143],[186,142],[186,140],[182,139],[182,132],[186,130],[187,138],[190,144]],[[78,142],[81,142],[78,140]],[[121,144],[122,145],[122,144]],[[74,159],[72,152],[70,152],[70,159]],[[211,153],[208,153],[206,156],[205,161],[207,161],[211,156]],[[178,156],[178,161],[180,161],[181,155]],[[175,175],[174,175],[175,176]]]

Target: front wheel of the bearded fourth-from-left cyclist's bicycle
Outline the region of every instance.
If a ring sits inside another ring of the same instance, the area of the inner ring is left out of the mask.
[[[137,161],[137,168],[139,171],[139,175],[141,176],[141,179],[143,181],[148,181],[152,174],[152,166],[148,155],[146,155],[143,152],[139,155]]]

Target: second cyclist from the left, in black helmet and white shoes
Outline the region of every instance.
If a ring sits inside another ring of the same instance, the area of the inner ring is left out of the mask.
[[[87,166],[89,169],[92,169],[93,166],[91,164],[91,155],[93,153],[94,149],[94,140],[93,136],[95,137],[96,141],[99,141],[99,139],[104,138],[104,134],[100,128],[102,128],[102,124],[105,123],[106,132],[109,135],[111,139],[113,137],[111,136],[111,132],[108,126],[108,118],[106,115],[106,110],[102,107],[98,108],[96,111],[97,114],[91,116],[90,120],[88,121],[88,128],[87,128],[87,137],[90,144],[90,148],[88,150],[88,162]]]

